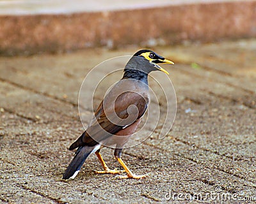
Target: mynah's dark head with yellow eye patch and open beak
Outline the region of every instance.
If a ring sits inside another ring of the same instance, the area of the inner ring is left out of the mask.
[[[159,64],[174,64],[172,61],[161,57],[151,50],[140,50],[136,52],[131,60],[127,63],[125,69],[137,69],[145,73],[150,73],[150,71],[163,71],[169,75],[168,71],[161,68]]]

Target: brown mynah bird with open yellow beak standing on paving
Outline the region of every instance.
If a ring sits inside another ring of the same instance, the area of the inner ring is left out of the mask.
[[[121,159],[121,153],[148,108],[148,73],[159,70],[168,74],[159,66],[161,63],[174,64],[151,50],[140,50],[131,57],[124,68],[124,76],[107,92],[86,131],[69,147],[69,150],[77,150],[63,174],[63,179],[74,179],[86,158],[93,153],[99,158],[104,169],[95,171],[96,173],[125,172],[126,175],[120,176],[120,179],[147,177],[147,174],[132,173]],[[100,149],[109,145],[115,145],[115,159],[124,170],[111,170],[102,159]]]

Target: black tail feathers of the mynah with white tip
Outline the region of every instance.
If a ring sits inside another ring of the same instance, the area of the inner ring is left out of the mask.
[[[75,157],[72,159],[71,163],[68,165],[67,170],[63,174],[62,179],[74,179],[79,172],[81,166],[83,165],[85,159],[91,154],[94,148],[95,146],[79,147],[76,151]]]

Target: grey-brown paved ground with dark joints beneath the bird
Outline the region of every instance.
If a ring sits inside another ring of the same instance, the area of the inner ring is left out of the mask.
[[[218,190],[256,200],[254,45],[255,40],[241,40],[154,49],[176,62],[165,68],[170,71],[178,106],[172,131],[163,140],[158,139],[160,124],[145,143],[124,150],[123,159],[134,173],[150,173],[142,180],[95,175],[93,170],[101,168],[95,156],[86,160],[75,180],[61,180],[74,156],[68,146],[83,131],[77,115],[83,77],[99,62],[131,55],[139,48],[0,57],[0,184],[4,186],[0,201],[156,203],[167,202],[165,196],[172,191],[188,196],[182,202],[212,203],[221,200],[196,200],[195,195]],[[209,68],[207,61],[216,69]],[[227,68],[225,73],[219,65]],[[88,92],[92,90],[88,87]],[[97,103],[103,94],[104,89]],[[164,108],[164,101],[160,103]],[[109,167],[121,169],[112,149],[103,149],[102,156]]]

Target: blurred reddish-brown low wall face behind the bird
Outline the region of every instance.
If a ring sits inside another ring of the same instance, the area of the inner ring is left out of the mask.
[[[256,36],[256,1],[69,15],[0,16],[0,55]]]

